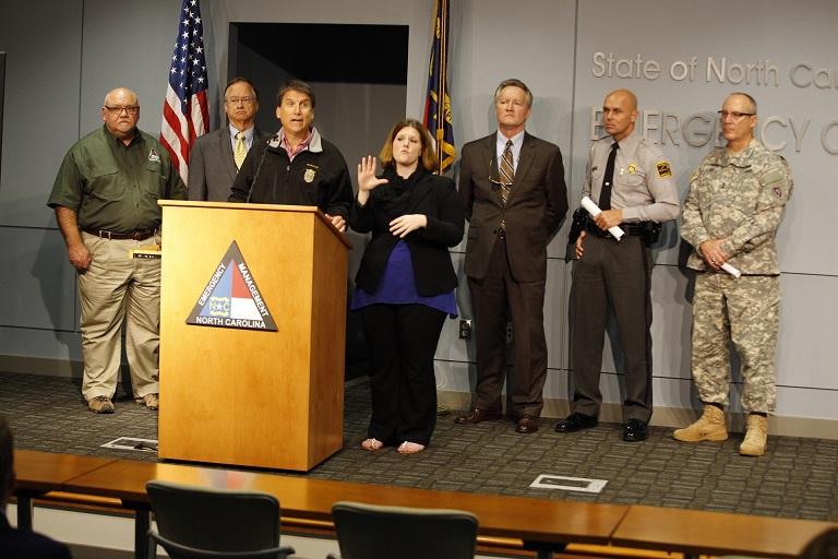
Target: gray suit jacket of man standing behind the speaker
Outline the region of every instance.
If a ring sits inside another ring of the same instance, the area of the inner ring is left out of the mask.
[[[270,138],[267,132],[254,129],[251,148]],[[189,154],[189,199],[226,202],[237,174],[229,124],[199,136]]]

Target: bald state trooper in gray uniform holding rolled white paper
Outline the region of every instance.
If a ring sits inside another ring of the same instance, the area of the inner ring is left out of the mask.
[[[589,195],[602,212],[596,218],[575,219],[583,228],[575,239],[577,262],[571,289],[575,392],[573,413],[559,421],[558,432],[574,432],[598,423],[602,345],[611,308],[625,369],[623,440],[647,437],[651,417],[649,245],[656,240],[660,223],[678,217],[680,205],[669,160],[634,133],[637,115],[637,98],[632,92],[608,94],[602,122],[609,135],[590,151],[583,197]],[[620,241],[608,233],[615,225],[625,231]]]

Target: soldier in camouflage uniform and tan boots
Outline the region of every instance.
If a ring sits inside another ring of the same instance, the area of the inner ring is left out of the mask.
[[[745,381],[742,407],[749,413],[739,450],[758,456],[765,452],[767,414],[776,401],[780,267],[775,235],[792,181],[786,159],[754,139],[756,102],[750,95],[728,96],[719,114],[728,144],[714,150],[693,173],[681,230],[694,247],[687,266],[697,271],[692,360],[704,414],[673,436],[686,442],[728,438],[723,406],[732,341]],[[742,276],[722,271],[725,263]]]

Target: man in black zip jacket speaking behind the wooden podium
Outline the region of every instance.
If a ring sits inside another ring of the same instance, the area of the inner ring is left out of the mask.
[[[343,231],[352,182],[344,156],[312,124],[315,104],[306,82],[291,80],[279,88],[276,118],[282,128],[248,152],[229,201],[315,205]]]

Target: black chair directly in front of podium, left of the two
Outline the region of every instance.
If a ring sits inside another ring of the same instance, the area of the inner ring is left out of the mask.
[[[172,559],[284,559],[279,501],[251,491],[202,489],[165,481],[145,486],[159,533],[148,531],[148,559],[159,544]]]

